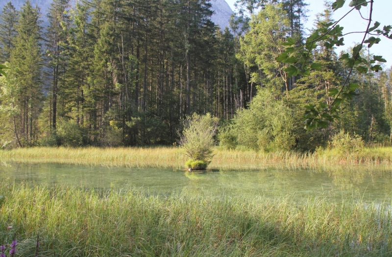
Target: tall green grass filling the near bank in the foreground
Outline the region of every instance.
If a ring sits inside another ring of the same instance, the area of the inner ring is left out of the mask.
[[[391,256],[390,211],[290,197],[169,197],[1,185],[0,240],[17,256]],[[12,227],[12,228],[8,228]],[[2,238],[1,238],[2,237]]]

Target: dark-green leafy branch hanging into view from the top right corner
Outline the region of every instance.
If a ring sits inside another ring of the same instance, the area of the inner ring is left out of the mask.
[[[342,8],[346,0],[336,0],[332,4],[332,9],[334,11]],[[349,3],[351,8],[341,19],[336,22],[323,24],[319,29],[315,30],[306,40],[304,44],[299,46],[294,46],[294,39],[288,37],[287,41],[283,43],[286,47],[285,51],[280,54],[276,61],[291,64],[286,71],[288,76],[309,76],[312,70],[321,70],[321,64],[311,61],[312,51],[316,49],[319,42],[324,42],[323,46],[327,49],[332,49],[333,47],[343,46],[344,36],[351,33],[364,33],[363,40],[361,44],[353,47],[352,54],[345,53],[339,58],[343,62],[343,65],[349,69],[348,75],[346,76],[343,85],[339,89],[330,89],[329,96],[334,97],[330,104],[326,104],[322,101],[318,103],[317,106],[314,104],[308,104],[305,106],[306,111],[304,114],[306,129],[316,129],[316,128],[326,128],[335,119],[340,118],[338,115],[338,107],[343,103],[345,99],[352,99],[356,95],[355,90],[359,87],[356,83],[350,83],[350,76],[353,70],[357,70],[358,73],[368,73],[369,70],[378,72],[382,70],[379,64],[376,62],[386,62],[382,56],[373,56],[373,60],[366,60],[360,55],[364,44],[368,44],[368,48],[372,47],[374,44],[378,44],[381,41],[380,36],[385,36],[392,39],[392,26],[384,26],[383,29],[379,29],[381,23],[375,22],[372,27],[372,13],[373,13],[373,3],[374,0],[351,0]],[[370,10],[368,18],[364,18],[360,12],[362,6],[368,6],[370,4]],[[353,10],[358,10],[361,18],[368,21],[367,29],[363,32],[350,32],[343,35],[343,27],[338,23],[343,20],[350,12]],[[373,32],[373,33],[372,33]],[[368,38],[368,39],[367,39]],[[299,59],[299,60],[298,60]],[[295,64],[300,64],[300,68],[295,66]]]

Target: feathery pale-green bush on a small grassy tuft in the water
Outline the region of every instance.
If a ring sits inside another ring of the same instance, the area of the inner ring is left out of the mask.
[[[187,117],[182,134],[178,132],[178,143],[183,153],[192,160],[209,164],[214,156],[212,149],[217,127],[218,118],[212,117],[209,113]]]

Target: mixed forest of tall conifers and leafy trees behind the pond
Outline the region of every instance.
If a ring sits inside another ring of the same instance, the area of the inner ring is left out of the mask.
[[[229,149],[314,151],[336,135],[391,144],[387,67],[354,69],[359,87],[337,118],[305,128],[305,106],[331,104],[343,85],[345,52],[324,37],[311,48],[319,69],[308,76],[277,59],[288,38],[305,42],[306,19],[314,29],[333,22],[331,3],[316,18],[304,0],[239,0],[237,8],[220,28],[208,0],[53,0],[47,13],[8,2],[0,147],[175,145],[194,113],[219,118],[216,141]],[[373,59],[366,47],[360,55]]]

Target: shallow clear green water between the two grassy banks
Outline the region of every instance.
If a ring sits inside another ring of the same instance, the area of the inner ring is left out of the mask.
[[[323,195],[330,199],[392,199],[392,168],[212,170],[200,173],[157,168],[88,167],[64,164],[2,162],[0,183],[67,185],[84,188],[137,187],[160,194],[195,192],[208,195],[263,195],[294,198]]]

